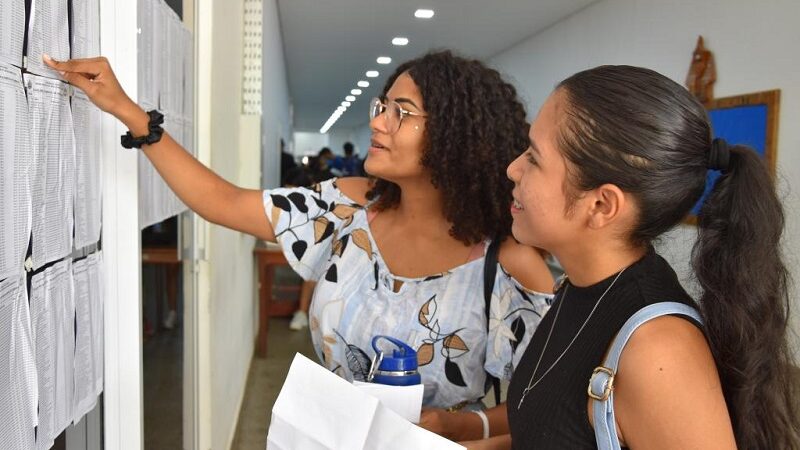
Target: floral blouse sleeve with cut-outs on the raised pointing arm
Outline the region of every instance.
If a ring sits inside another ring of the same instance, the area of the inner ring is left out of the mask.
[[[286,260],[304,280],[317,281],[336,254],[336,236],[363,207],[327,180],[312,187],[265,190],[264,212]]]

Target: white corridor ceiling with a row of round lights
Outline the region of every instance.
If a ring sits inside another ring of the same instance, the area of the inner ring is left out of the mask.
[[[429,49],[488,59],[594,0],[278,0],[294,127],[318,131],[358,80],[370,82],[331,128],[367,123],[367,103],[394,68]],[[435,11],[417,19],[414,11]],[[394,46],[395,36],[409,39]],[[389,65],[377,64],[389,56]],[[366,78],[378,70],[378,78]]]

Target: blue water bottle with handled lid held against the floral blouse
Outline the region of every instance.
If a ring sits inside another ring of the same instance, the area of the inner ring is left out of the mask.
[[[391,355],[378,348],[378,341],[385,339],[397,348]],[[375,357],[370,368],[370,381],[391,386],[411,386],[420,384],[422,378],[417,372],[417,352],[405,342],[389,336],[378,335],[372,338]]]

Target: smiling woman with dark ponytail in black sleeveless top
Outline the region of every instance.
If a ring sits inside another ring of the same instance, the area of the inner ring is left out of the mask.
[[[800,448],[783,212],[758,155],[714,139],[683,87],[629,66],[563,81],[529,137],[508,168],[513,233],[568,278],[511,381],[511,435],[480,445],[597,448],[592,372],[634,313],[669,301],[702,320],[662,316],[632,334],[613,382],[621,445]],[[698,201],[708,170],[721,177],[699,215],[695,301],[652,243]]]

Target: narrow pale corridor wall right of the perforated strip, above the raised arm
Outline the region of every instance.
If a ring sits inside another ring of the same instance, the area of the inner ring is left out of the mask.
[[[271,188],[280,184],[280,139],[283,138],[289,145],[292,139],[292,116],[277,0],[263,1],[261,183],[262,187]]]

